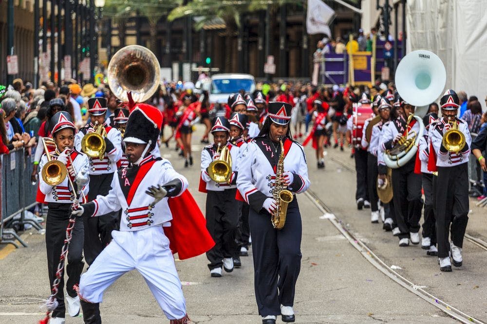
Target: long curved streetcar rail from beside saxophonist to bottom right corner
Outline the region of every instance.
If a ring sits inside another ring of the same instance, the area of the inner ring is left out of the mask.
[[[394,271],[382,259],[380,259],[361,239],[357,238],[355,234],[347,229],[344,223],[341,220],[337,219],[332,210],[325,203],[323,203],[323,201],[319,199],[312,190],[308,189],[304,194],[313,204],[318,207],[321,212],[323,212],[323,214],[326,213],[328,215],[333,215],[332,217],[328,216],[323,219],[327,219],[328,221],[330,221],[337,228],[337,230],[349,241],[349,243],[352,244],[352,246],[356,248],[356,250],[381,273],[385,274],[391,280],[401,285],[403,288],[411,291],[423,300],[427,301],[434,307],[439,308],[441,311],[448,314],[457,321],[460,321],[462,323],[484,324],[484,322],[477,320],[472,316],[469,316],[468,314],[449,305],[448,303],[424,290],[424,286],[415,285],[414,283]]]

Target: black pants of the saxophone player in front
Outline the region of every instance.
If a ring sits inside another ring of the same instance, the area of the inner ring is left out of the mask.
[[[254,289],[261,316],[281,314],[293,306],[296,281],[301,269],[301,214],[296,197],[288,205],[286,223],[275,229],[270,214],[250,208]]]

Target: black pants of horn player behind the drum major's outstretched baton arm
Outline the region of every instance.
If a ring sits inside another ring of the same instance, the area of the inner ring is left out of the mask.
[[[113,173],[90,175],[90,192],[88,201],[96,199],[97,195],[106,196],[112,189]],[[112,240],[112,231],[118,229],[119,212],[111,212],[97,217],[83,218],[85,229],[85,260],[91,265],[94,259]]]

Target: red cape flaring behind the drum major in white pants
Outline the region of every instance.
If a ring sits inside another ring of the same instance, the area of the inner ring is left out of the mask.
[[[169,198],[171,226],[164,227],[172,253],[181,260],[199,256],[210,250],[215,242],[206,229],[206,219],[189,190],[179,197]]]

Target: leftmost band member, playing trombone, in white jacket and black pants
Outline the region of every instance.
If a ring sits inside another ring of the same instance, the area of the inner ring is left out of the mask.
[[[50,152],[53,160],[57,160],[66,165],[68,176],[74,183],[75,172],[86,171],[88,173],[89,161],[88,156],[74,149],[75,142],[75,125],[71,115],[67,112],[60,111],[56,113],[49,121],[49,133],[53,135],[57,149],[61,152]],[[57,186],[47,184],[42,178],[42,169],[48,159],[46,153],[40,160],[39,172],[39,189],[45,195],[44,201],[47,203],[46,219],[46,250],[47,250],[47,269],[51,286],[56,279],[57,265],[61,255],[61,249],[66,239],[66,228],[68,226],[71,205],[75,199],[77,188],[70,188],[68,178],[64,179]],[[71,164],[73,163],[73,164]],[[83,188],[85,194],[88,193],[88,185]],[[75,284],[79,283],[79,277],[83,271],[83,222],[75,222],[71,242],[69,244],[68,265],[66,273],[66,301],[68,304],[68,313],[70,316],[77,316],[79,313],[79,297],[73,289]],[[64,272],[64,269],[63,269]],[[57,308],[52,313],[50,323],[64,324],[65,304],[64,304],[64,275],[61,275],[59,290],[56,295],[58,302]]]

